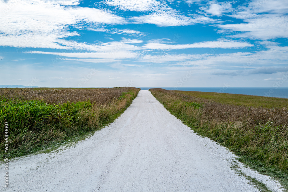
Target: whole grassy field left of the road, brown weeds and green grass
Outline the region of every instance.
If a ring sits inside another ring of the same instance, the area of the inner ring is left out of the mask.
[[[9,123],[10,157],[18,157],[102,128],[131,104],[139,90],[1,88],[0,148],[6,147],[5,122]]]

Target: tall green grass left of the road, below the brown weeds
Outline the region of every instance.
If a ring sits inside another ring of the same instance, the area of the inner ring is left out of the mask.
[[[140,89],[139,89],[140,90]],[[51,104],[43,100],[0,100],[0,149],[4,149],[4,123],[9,123],[9,154],[19,157],[75,140],[113,122],[132,103],[139,90],[123,92],[105,104],[89,100]],[[1,150],[0,158],[4,151]]]

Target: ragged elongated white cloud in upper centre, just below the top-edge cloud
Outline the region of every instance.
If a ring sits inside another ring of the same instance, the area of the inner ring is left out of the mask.
[[[215,19],[193,14],[193,17],[187,17],[175,10],[161,11],[149,15],[133,17],[135,23],[151,23],[158,26],[185,26],[196,23],[211,23],[216,22]]]

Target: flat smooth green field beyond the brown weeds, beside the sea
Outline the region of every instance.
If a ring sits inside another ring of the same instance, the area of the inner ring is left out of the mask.
[[[213,100],[215,102],[231,105],[264,107],[264,108],[287,108],[288,99],[275,97],[262,97],[252,95],[240,95],[229,93],[213,93],[213,92],[198,92],[198,91],[173,91],[188,96],[198,97]]]

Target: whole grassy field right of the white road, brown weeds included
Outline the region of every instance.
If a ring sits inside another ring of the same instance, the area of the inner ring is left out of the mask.
[[[261,97],[164,89],[150,91],[192,130],[228,147],[240,161],[277,178],[288,190],[287,99],[257,100]]]

